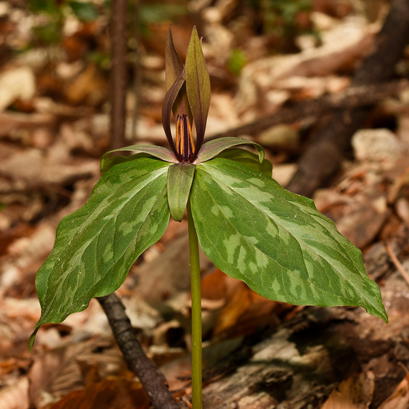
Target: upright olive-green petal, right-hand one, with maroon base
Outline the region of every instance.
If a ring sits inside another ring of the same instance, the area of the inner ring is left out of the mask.
[[[210,106],[210,77],[201,50],[196,27],[193,27],[186,55],[186,90],[196,126],[196,151],[203,143]]]

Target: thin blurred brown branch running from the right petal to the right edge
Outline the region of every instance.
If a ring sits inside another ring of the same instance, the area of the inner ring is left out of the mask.
[[[373,106],[378,101],[397,94],[407,85],[404,80],[382,84],[358,85],[348,88],[344,93],[326,95],[316,100],[294,103],[281,109],[274,115],[258,119],[252,123],[239,126],[229,131],[212,135],[207,140],[222,137],[239,137],[254,135],[271,126],[289,124],[305,117],[322,117],[339,109],[351,110],[361,106]]]

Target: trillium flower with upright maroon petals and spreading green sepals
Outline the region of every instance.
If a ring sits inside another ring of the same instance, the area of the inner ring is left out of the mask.
[[[119,148],[102,156],[101,173],[105,173],[118,163],[132,161],[141,154],[148,154],[174,164],[168,170],[167,194],[172,218],[181,221],[192,186],[195,165],[211,160],[228,148],[243,144],[252,144],[256,147],[258,165],[254,164],[254,157],[248,157],[246,151],[242,149],[239,153],[237,149],[230,150],[227,156],[250,167],[256,166],[269,176],[271,165],[264,160],[264,150],[259,144],[243,138],[220,138],[203,144],[211,96],[209,71],[196,27],[193,27],[190,37],[185,66],[173,45],[171,29],[172,26],[169,27],[165,44],[167,93],[162,106],[162,124],[171,150],[152,145]],[[176,125],[175,141],[171,131],[172,112]],[[196,130],[196,141],[193,138],[193,125]],[[135,154],[108,158],[110,153],[123,150],[132,150]]]

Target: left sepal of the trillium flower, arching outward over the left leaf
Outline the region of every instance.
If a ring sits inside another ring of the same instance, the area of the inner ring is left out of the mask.
[[[132,156],[118,155],[118,156],[112,156],[108,158],[108,156],[111,153],[121,152],[121,151],[133,151],[136,153]],[[155,145],[131,145],[131,146],[125,146],[123,148],[110,150],[109,152],[104,153],[104,155],[101,157],[100,172],[105,173],[113,165],[117,165],[123,162],[134,161],[135,159],[138,159],[139,157],[145,156],[145,155],[138,156],[139,153],[146,153],[150,156],[156,157],[165,162],[177,163],[177,158],[170,149],[164,148],[162,146],[155,146]]]

